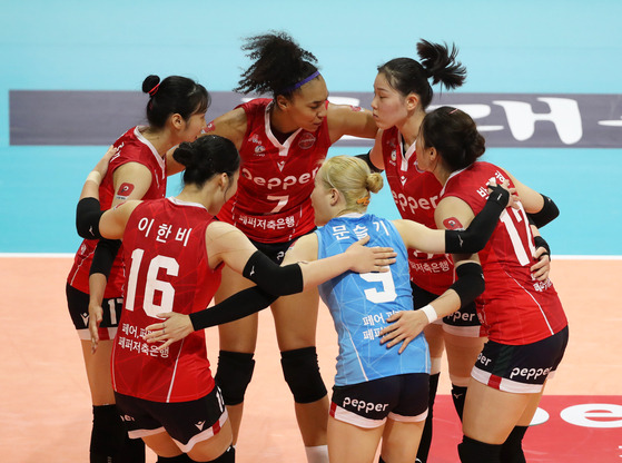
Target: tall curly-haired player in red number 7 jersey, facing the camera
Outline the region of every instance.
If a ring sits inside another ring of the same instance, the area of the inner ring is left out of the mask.
[[[293,240],[315,227],[310,205],[318,161],[344,135],[374,138],[372,114],[328,102],[326,82],[315,57],[285,33],[249,38],[244,46],[254,63],[237,91],[270,95],[218,117],[209,134],[229,138],[243,159],[238,193],[218,218],[243,230],[274,262]],[[216,301],[250,282],[228,268]],[[304,307],[290,316],[290,306]],[[294,395],[296,417],[309,462],[326,462],[328,397],[315,349],[318,295],[310,289],[271,305],[282,365]],[[257,316],[219,326],[216,378],[223,388],[237,439],[244,395],[253,375]]]

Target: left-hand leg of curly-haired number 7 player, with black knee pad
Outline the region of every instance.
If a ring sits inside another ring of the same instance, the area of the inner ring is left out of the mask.
[[[225,266],[220,286],[214,297],[215,302],[219,303],[249,286],[253,286],[250,280]],[[220,352],[215,378],[227,405],[234,444],[237,442],[241,424],[244,396],[255,368],[253,356],[257,344],[257,314],[218,325]]]

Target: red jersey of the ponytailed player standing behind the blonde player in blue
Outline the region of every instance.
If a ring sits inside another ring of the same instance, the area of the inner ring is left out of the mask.
[[[436,228],[434,209],[442,185],[433,174],[416,166],[415,144],[406,152],[396,127],[383,132],[383,160],[393,200],[402,218]],[[454,265],[446,254],[427,254],[408,249],[411,279],[421,288],[442,294],[454,283]]]

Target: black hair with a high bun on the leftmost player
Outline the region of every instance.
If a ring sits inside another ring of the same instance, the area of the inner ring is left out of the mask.
[[[178,114],[184,120],[207,111],[210,96],[206,88],[187,77],[169,76],[160,82],[158,76],[147,76],[142,91],[149,93],[147,120],[151,127],[162,129],[170,115]]]

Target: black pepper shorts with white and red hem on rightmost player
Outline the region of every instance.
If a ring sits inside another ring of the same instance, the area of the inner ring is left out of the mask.
[[[542,341],[522,346],[488,341],[477,356],[471,375],[500,391],[531,394],[542,391],[553,377],[567,345],[567,326]]]

